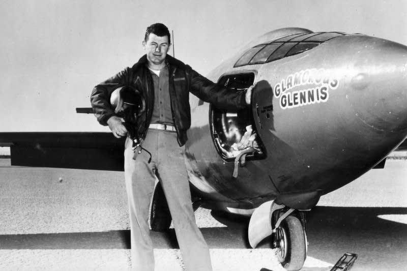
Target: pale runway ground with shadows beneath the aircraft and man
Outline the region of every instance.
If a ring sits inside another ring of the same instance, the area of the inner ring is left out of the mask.
[[[329,270],[345,252],[352,270],[407,270],[407,160],[323,196],[308,215],[302,270]],[[123,172],[11,167],[0,159],[0,270],[128,270]],[[283,270],[268,244],[249,249],[248,219],[199,208],[214,270]],[[173,230],[152,232],[156,269],[181,271]]]

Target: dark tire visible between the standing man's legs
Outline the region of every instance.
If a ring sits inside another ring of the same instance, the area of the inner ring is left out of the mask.
[[[161,183],[158,182],[151,201],[150,228],[153,231],[166,231],[171,225],[171,214]]]

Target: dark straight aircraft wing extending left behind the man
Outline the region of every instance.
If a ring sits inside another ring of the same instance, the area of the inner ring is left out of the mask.
[[[124,141],[110,132],[0,133],[12,166],[123,171]]]

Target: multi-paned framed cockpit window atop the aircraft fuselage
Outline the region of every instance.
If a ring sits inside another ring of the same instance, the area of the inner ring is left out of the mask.
[[[300,33],[285,36],[268,44],[260,44],[246,51],[234,67],[264,64],[283,57],[299,54],[334,38],[344,36],[341,32]]]

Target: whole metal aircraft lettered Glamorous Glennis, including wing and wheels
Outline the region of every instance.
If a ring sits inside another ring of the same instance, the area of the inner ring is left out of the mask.
[[[208,77],[236,91],[256,86],[245,110],[190,97],[185,163],[194,205],[251,216],[250,245],[271,236],[281,264],[298,270],[308,245],[305,211],[405,149],[407,47],[282,28]],[[236,149],[246,133],[255,134],[252,145]],[[0,133],[0,142],[11,146],[12,165],[123,170],[124,139],[107,132]],[[158,184],[151,227],[165,230],[170,221]]]

